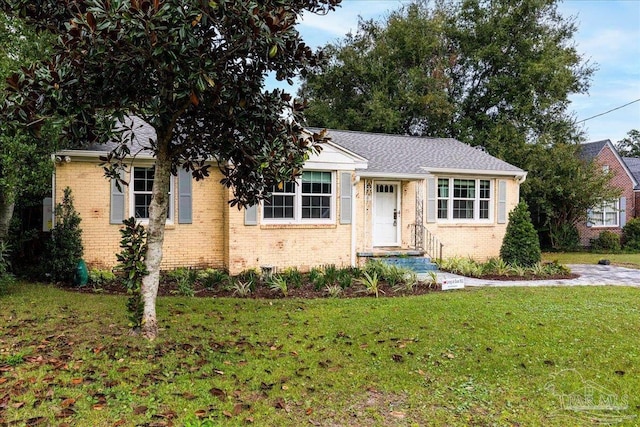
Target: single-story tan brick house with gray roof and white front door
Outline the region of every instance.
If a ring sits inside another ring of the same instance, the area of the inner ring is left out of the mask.
[[[330,130],[331,142],[295,183],[257,206],[230,207],[231,190],[212,168],[203,181],[171,181],[162,268],[358,265],[389,251],[431,256],[498,256],[508,213],[526,172],[450,138]],[[138,141],[148,135],[137,134]],[[103,176],[109,144],[56,153],[53,200],[70,187],[85,260],[109,268],[124,218],[148,218],[153,157],[131,159],[122,191]],[[132,153],[135,150],[132,150]]]

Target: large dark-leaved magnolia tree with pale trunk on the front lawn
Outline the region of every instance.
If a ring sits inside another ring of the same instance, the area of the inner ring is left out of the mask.
[[[320,59],[295,24],[340,0],[7,0],[3,10],[58,44],[47,61],[8,79],[3,120],[34,130],[62,122],[78,144],[120,138],[106,175],[131,154],[137,116],[151,125],[155,155],[149,207],[149,274],[142,285],[142,334],[157,336],[156,296],[171,174],[209,175],[216,160],[232,205],[248,205],[291,180],[322,134],[302,132],[303,106],[266,91],[273,73],[290,80]],[[287,114],[288,113],[288,114]],[[37,133],[37,132],[36,132]]]

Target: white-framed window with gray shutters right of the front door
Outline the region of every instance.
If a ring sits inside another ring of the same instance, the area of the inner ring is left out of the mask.
[[[438,178],[438,219],[490,220],[491,194],[488,179]]]

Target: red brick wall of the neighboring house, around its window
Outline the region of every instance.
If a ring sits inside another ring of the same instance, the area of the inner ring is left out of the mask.
[[[602,151],[598,154],[596,162],[602,166],[609,166],[609,173],[613,175],[611,178],[611,185],[613,187],[622,190],[620,197],[626,197],[627,199],[627,221],[636,216],[636,195],[633,191],[633,181],[627,174],[621,161],[618,160],[615,153],[611,150],[611,147],[605,145]],[[640,208],[640,206],[638,206]],[[580,244],[583,246],[589,246],[589,241],[598,237],[598,235],[604,231],[612,231],[616,234],[622,234],[622,227],[587,227],[586,224],[578,224],[578,232],[580,233]]]

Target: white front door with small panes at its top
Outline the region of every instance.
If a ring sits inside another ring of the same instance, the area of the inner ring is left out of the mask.
[[[400,244],[400,194],[397,182],[376,182],[373,198],[373,246]]]

